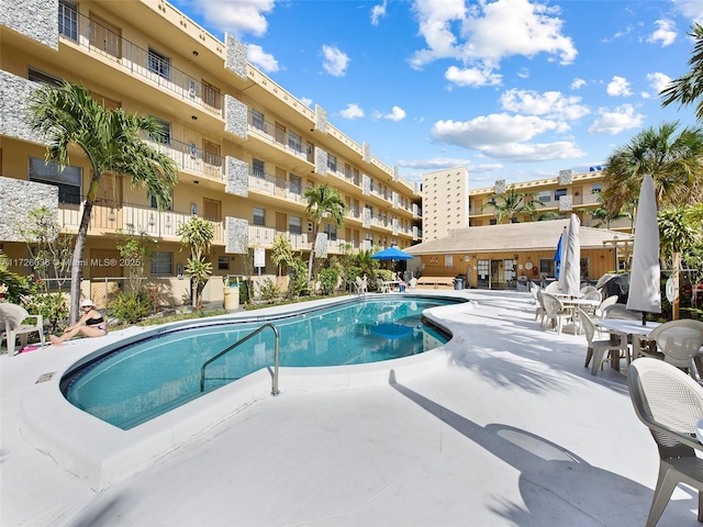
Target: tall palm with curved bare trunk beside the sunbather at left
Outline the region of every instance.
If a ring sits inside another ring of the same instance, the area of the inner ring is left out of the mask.
[[[81,261],[100,179],[104,175],[127,176],[132,184],[145,187],[163,209],[170,203],[178,169],[169,157],[142,139],[142,133],[156,138],[161,136],[160,125],[154,117],[130,115],[122,109],[105,109],[81,85],[64,82],[58,88],[44,86],[32,92],[27,122],[34,132],[46,138],[47,160],[65,167],[72,145],[82,150],[92,169],[71,261],[70,322],[75,323],[80,300]]]

